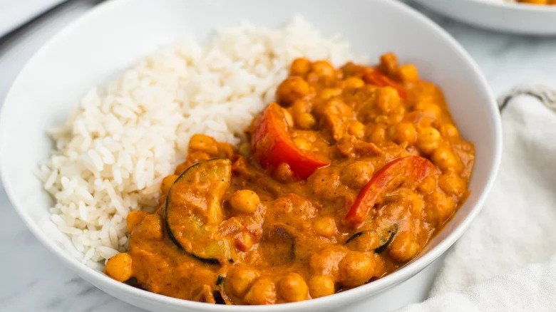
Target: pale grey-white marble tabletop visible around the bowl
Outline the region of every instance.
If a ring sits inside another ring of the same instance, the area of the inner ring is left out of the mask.
[[[16,41],[0,46],[0,99],[4,98],[11,81],[32,53],[91,6],[87,1],[71,4]],[[463,44],[483,68],[496,95],[530,79],[556,85],[556,37],[493,33],[424,13]],[[99,291],[64,267],[26,229],[1,184],[0,251],[0,312],[143,311]],[[441,261],[437,261],[388,295],[379,296],[355,309],[390,311],[423,300],[440,265]]]

